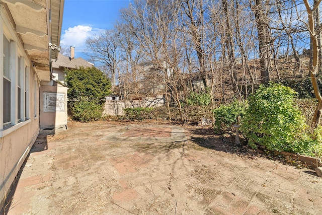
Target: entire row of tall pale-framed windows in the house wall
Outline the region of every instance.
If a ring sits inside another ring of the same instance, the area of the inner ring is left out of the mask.
[[[30,122],[31,92],[30,65],[23,44],[3,24],[0,22],[0,137]]]

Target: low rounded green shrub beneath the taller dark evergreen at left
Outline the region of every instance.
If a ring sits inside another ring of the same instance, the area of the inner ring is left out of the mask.
[[[71,118],[76,121],[97,121],[102,117],[103,105],[95,101],[74,102],[70,106]]]

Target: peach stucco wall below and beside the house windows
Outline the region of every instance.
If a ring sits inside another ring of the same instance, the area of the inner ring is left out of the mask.
[[[29,76],[29,118],[18,123],[17,129],[3,130],[0,137],[0,208],[39,133],[39,105],[34,103],[39,101],[39,81],[34,81],[34,75]]]

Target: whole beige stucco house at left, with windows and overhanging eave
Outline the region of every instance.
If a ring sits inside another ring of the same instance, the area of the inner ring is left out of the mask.
[[[51,79],[63,4],[0,1],[0,213],[39,134],[41,82]]]

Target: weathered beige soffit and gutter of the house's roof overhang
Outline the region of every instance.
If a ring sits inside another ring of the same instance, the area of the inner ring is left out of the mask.
[[[37,68],[39,78],[41,79],[40,81],[50,81],[51,58],[56,58],[57,50],[52,50],[48,44],[57,44],[60,42],[64,1],[0,1],[8,14],[10,14],[10,19],[13,21],[13,28],[20,36],[25,51]],[[51,8],[52,5],[54,5],[53,9]],[[50,18],[52,19],[51,22],[49,20]]]

